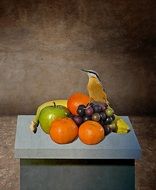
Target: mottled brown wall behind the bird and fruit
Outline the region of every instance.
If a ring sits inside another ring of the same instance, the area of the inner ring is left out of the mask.
[[[0,115],[86,92],[96,70],[118,114],[156,109],[153,0],[1,0]]]

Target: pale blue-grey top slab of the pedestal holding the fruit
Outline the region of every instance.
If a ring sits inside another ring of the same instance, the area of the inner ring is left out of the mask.
[[[128,116],[127,134],[111,133],[97,145],[85,145],[79,138],[70,144],[53,142],[40,126],[33,134],[29,125],[33,115],[19,115],[17,119],[15,157],[20,159],[139,159],[141,148]]]

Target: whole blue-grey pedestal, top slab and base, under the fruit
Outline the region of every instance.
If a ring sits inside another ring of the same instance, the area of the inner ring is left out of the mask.
[[[18,116],[15,157],[20,159],[21,190],[132,190],[135,159],[141,149],[130,125],[128,134],[109,134],[97,145],[79,139],[71,144],[54,143],[41,128],[29,129],[33,116]]]

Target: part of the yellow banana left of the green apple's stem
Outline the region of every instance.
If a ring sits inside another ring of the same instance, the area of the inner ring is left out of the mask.
[[[38,108],[37,108],[37,111],[36,111],[36,114],[30,124],[30,130],[33,132],[33,133],[36,133],[37,132],[37,127],[39,125],[39,116],[40,116],[40,113],[41,111],[45,108],[45,107],[49,107],[49,106],[56,106],[56,103],[54,101],[49,101],[49,102],[45,102],[43,104],[41,104]]]

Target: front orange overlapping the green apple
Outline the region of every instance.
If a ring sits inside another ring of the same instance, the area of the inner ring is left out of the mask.
[[[75,122],[68,117],[56,119],[50,128],[50,137],[59,144],[67,144],[74,141],[78,136],[78,127]]]

